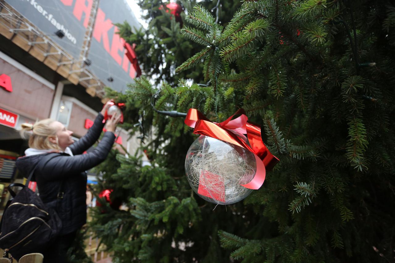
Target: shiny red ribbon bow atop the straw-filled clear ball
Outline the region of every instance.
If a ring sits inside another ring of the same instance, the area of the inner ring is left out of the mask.
[[[241,114],[239,117],[232,120],[233,116]],[[211,122],[197,109],[189,109],[184,120],[185,124],[194,128],[195,134],[201,134],[212,137],[234,145],[243,147],[252,152],[256,159],[256,174],[254,178],[247,184],[242,186],[249,189],[259,189],[265,180],[266,171],[270,171],[279,161],[276,156],[271,154],[261,139],[261,128],[248,122],[248,117],[245,115],[243,109],[239,109],[227,120],[221,123]],[[248,143],[240,139],[235,133],[246,134]]]

